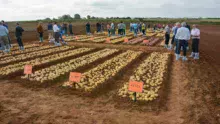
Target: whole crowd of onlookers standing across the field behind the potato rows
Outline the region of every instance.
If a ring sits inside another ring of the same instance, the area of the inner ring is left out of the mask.
[[[90,23],[86,23],[86,34],[91,35],[91,25]],[[190,57],[193,57],[194,59],[199,59],[199,40],[200,40],[200,30],[197,28],[197,25],[193,25],[193,28],[191,30],[190,26],[183,22],[179,23],[177,22],[175,25],[167,24],[166,26],[163,24],[146,24],[146,23],[130,23],[129,30],[130,32],[134,33],[134,36],[136,37],[138,33],[142,33],[143,36],[146,36],[146,30],[152,29],[155,30],[164,30],[165,32],[165,48],[172,50],[175,49],[175,55],[176,60],[179,60],[182,57],[183,61],[187,60],[186,52],[189,49],[188,42],[192,38],[192,53]],[[104,23],[98,22],[96,24],[96,32],[102,33],[105,30]],[[39,35],[40,43],[43,42],[44,39],[44,27],[41,22],[39,22],[36,31]],[[49,33],[48,40],[50,43],[54,43],[56,46],[61,46],[61,43],[64,45],[67,45],[67,43],[64,41],[63,36],[73,35],[73,25],[71,23],[63,23],[62,25],[58,24],[57,22],[54,23],[48,23],[47,25],[47,31]],[[117,25],[115,25],[114,22],[108,23],[106,25],[106,31],[108,32],[108,36],[115,36],[116,31],[119,36],[126,36],[126,24],[124,22],[120,22]],[[19,23],[16,23],[15,28],[15,36],[17,39],[17,43],[19,45],[20,50],[24,50],[24,45],[22,42],[22,33],[24,32],[24,29],[19,25]],[[173,33],[173,37],[171,40],[171,43],[169,45],[170,41],[170,34]],[[61,41],[61,42],[60,42]],[[0,49],[8,53],[10,52],[10,48],[12,47],[11,39],[9,36],[9,30],[8,25],[4,22],[0,22]],[[181,50],[183,51],[183,56],[180,56]]]

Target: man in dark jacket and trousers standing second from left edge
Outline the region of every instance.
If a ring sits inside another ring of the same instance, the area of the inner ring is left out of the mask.
[[[15,28],[15,36],[17,38],[17,42],[19,45],[20,50],[24,50],[24,45],[22,42],[22,33],[24,32],[24,29],[17,23],[17,26]]]

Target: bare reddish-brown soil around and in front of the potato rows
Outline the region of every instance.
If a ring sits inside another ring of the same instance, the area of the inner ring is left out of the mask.
[[[166,100],[158,107],[123,102],[116,98],[130,69],[106,92],[87,96],[59,84],[34,87],[14,78],[0,82],[0,123],[2,124],[218,124],[220,123],[220,26],[200,26],[201,59],[175,61],[167,81]],[[80,33],[80,32],[77,32]],[[36,37],[34,37],[36,36]],[[25,42],[37,40],[26,32]],[[14,42],[14,41],[13,41]],[[75,46],[107,47],[121,50],[166,51],[161,47],[72,43]],[[189,54],[189,53],[188,53]]]

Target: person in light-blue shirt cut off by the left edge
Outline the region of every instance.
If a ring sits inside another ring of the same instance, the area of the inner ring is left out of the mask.
[[[8,41],[8,29],[3,26],[3,23],[0,22],[0,44],[1,44],[1,50],[3,50],[4,53],[10,52],[10,45]]]

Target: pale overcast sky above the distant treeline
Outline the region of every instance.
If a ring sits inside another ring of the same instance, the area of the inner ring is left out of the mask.
[[[220,17],[220,0],[0,0],[0,19],[96,17]]]

